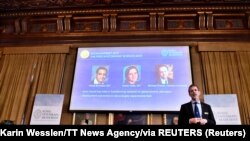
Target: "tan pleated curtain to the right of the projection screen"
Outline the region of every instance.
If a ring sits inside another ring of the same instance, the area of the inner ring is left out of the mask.
[[[250,117],[250,52],[201,52],[205,92],[237,94],[242,124]]]

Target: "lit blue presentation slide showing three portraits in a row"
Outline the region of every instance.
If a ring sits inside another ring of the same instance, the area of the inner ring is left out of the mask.
[[[179,111],[190,101],[188,46],[78,48],[72,111]]]

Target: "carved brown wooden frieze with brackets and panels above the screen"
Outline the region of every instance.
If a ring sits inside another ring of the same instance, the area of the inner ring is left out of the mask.
[[[12,26],[13,30],[7,33],[3,30],[6,28],[0,24],[0,32],[4,31],[4,34],[0,34],[0,40],[2,46],[37,42],[71,44],[103,40],[105,42],[135,40],[130,35],[137,36],[136,39],[140,41],[148,39],[151,41],[219,41],[224,38],[246,41],[249,39],[247,30],[250,27],[247,8],[249,8],[247,5],[231,7],[222,4],[219,7],[197,6],[193,9],[185,6],[151,8],[134,6],[123,9],[91,9],[90,7],[88,10],[3,13],[0,14],[1,22],[9,20],[11,24],[6,25]],[[86,32],[93,33],[86,34]],[[96,38],[91,38],[89,35]]]

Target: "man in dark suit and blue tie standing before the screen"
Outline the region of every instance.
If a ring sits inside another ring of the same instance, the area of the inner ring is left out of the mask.
[[[188,93],[191,101],[181,105],[178,124],[215,125],[216,121],[211,106],[200,101],[198,86],[190,85]]]

